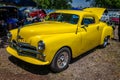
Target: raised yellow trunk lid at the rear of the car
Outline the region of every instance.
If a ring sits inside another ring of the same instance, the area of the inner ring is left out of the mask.
[[[89,12],[96,14],[99,19],[101,19],[105,10],[106,10],[105,8],[85,8],[85,9],[83,9],[83,11],[89,11]]]

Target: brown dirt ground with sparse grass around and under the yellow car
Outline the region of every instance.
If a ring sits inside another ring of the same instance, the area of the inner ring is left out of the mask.
[[[23,62],[0,48],[0,80],[120,80],[120,42],[111,40],[104,49],[84,53],[60,73]]]

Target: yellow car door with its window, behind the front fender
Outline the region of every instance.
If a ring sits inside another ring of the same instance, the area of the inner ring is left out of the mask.
[[[83,33],[82,48],[85,51],[90,50],[99,45],[101,36],[100,26],[99,23],[96,22],[96,18],[94,15],[83,16],[81,28]]]

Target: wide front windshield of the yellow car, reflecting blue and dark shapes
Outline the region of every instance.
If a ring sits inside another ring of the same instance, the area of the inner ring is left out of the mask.
[[[67,22],[70,24],[77,24],[78,20],[78,15],[66,13],[51,13],[47,19],[47,21]]]

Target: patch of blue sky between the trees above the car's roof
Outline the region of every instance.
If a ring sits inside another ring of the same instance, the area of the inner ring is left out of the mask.
[[[89,7],[90,6],[90,4],[89,4],[89,2],[85,2],[85,0],[73,0],[73,2],[72,2],[72,6],[73,7]]]

